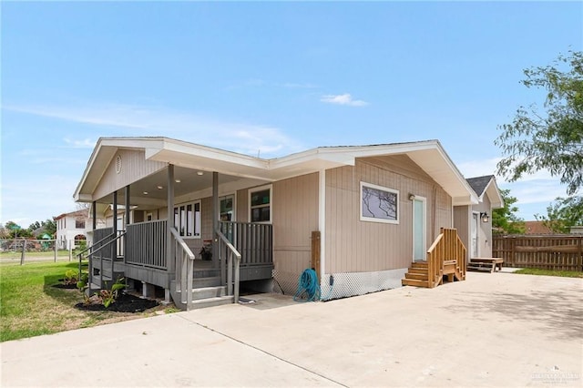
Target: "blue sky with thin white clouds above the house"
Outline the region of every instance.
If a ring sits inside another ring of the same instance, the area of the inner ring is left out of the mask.
[[[523,69],[583,48],[580,2],[2,2],[0,222],[76,209],[99,137],[264,158],[437,138],[466,178],[544,93]],[[517,183],[534,220],[565,188]]]

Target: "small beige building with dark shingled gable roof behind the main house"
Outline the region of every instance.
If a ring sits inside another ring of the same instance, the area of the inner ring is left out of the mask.
[[[504,208],[494,175],[466,179],[478,203],[456,206],[454,225],[467,248],[467,259],[492,257],[492,210]]]

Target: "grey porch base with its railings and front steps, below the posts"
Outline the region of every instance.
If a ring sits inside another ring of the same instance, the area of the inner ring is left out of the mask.
[[[167,229],[167,220],[153,220],[116,232],[113,228],[95,230],[97,241],[87,250],[90,291],[106,289],[125,278],[132,288],[139,286],[144,296],[151,296],[153,288],[159,287],[166,291],[167,301],[171,297],[189,310],[189,304],[195,307],[208,298],[236,302],[240,282],[262,281],[263,288],[269,287],[271,225],[220,221],[218,238],[213,241],[217,256],[212,260],[192,253],[176,230],[171,232],[169,244]],[[167,255],[169,245],[172,256]],[[170,270],[172,261],[174,271]]]

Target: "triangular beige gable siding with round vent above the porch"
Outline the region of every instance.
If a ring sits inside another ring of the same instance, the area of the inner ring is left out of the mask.
[[[116,159],[118,155],[121,157],[121,170],[119,174],[116,172]],[[93,198],[103,198],[163,168],[166,168],[166,163],[146,160],[146,154],[143,150],[119,149],[118,153],[109,162],[103,178],[99,181],[94,191]]]

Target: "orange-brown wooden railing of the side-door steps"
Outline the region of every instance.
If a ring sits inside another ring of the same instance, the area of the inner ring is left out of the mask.
[[[428,286],[442,283],[444,275],[465,280],[465,246],[455,229],[441,229],[441,233],[427,250]]]

